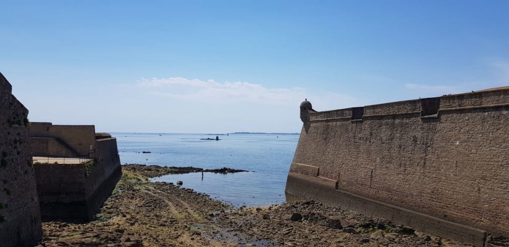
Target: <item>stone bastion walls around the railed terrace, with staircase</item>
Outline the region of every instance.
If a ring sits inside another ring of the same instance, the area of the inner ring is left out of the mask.
[[[117,139],[95,133],[94,125],[52,125],[33,123],[30,130],[34,155],[66,157],[83,154],[82,163],[35,163],[37,192],[43,220],[74,219],[89,221],[111,194],[122,176]],[[49,148],[55,142],[59,148]],[[93,140],[93,141],[92,141]]]

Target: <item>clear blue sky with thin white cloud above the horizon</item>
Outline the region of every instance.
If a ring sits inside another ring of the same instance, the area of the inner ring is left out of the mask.
[[[509,85],[509,1],[9,1],[31,121],[298,132],[318,111]]]

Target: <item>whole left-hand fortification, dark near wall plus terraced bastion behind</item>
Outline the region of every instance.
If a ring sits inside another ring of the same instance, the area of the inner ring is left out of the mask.
[[[41,219],[90,220],[122,176],[117,140],[108,133],[30,123],[27,115],[0,73],[2,247],[36,245]]]

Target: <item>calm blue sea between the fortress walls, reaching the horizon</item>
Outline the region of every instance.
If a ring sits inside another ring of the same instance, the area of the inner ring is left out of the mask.
[[[299,135],[175,133],[112,133],[117,137],[122,163],[159,166],[235,168],[235,174],[190,173],[167,175],[153,181],[176,183],[235,206],[267,206],[284,202],[285,184]],[[143,153],[149,151],[151,153]]]

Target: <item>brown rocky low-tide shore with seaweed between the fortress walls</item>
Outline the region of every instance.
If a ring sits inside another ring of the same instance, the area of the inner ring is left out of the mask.
[[[206,172],[130,164],[94,221],[43,223],[41,246],[463,246],[314,201],[240,207],[149,178]],[[234,172],[218,169],[218,172]],[[494,239],[497,240],[497,239]],[[502,241],[502,240],[500,240]]]

